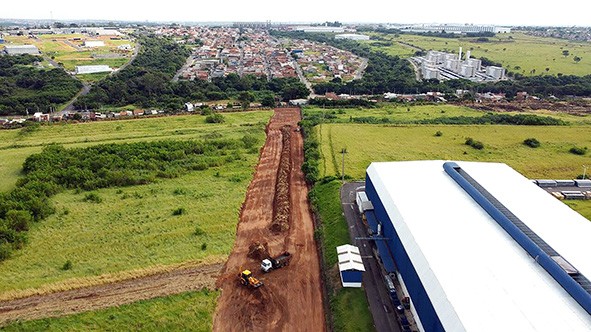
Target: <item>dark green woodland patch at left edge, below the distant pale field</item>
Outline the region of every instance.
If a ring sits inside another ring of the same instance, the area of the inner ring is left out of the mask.
[[[82,83],[62,68],[39,69],[34,55],[0,56],[0,115],[47,112],[72,99]]]

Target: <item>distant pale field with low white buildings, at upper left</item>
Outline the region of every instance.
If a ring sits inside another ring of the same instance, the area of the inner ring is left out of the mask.
[[[101,40],[105,42],[105,46],[85,48],[82,47],[84,40]],[[117,47],[123,44],[135,46],[130,40],[111,40],[105,36],[89,37],[81,34],[41,35],[36,39],[8,36],[6,41],[15,45],[35,45],[44,55],[61,63],[67,71],[74,71],[76,66],[81,65],[109,65],[114,69],[119,68],[129,61],[133,52],[121,52]]]

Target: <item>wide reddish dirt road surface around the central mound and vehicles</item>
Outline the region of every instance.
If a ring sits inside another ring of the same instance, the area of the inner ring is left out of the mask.
[[[291,135],[289,229],[282,233],[269,230],[273,217],[274,191],[282,151],[281,128],[296,128],[298,109],[277,109],[267,129],[267,141],[242,207],[234,249],[226,262],[217,286],[222,289],[214,317],[214,331],[325,331],[320,265],[314,242],[304,175],[303,138]],[[260,261],[247,257],[249,246],[268,243],[269,252],[289,251],[289,266],[262,275]],[[242,269],[250,269],[264,282],[257,290],[237,281]]]

